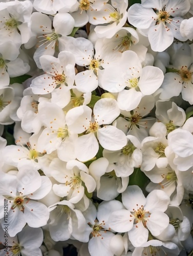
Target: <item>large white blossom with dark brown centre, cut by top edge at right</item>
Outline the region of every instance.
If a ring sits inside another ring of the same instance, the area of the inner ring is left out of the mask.
[[[153,51],[162,52],[174,41],[185,41],[180,34],[180,24],[190,8],[188,0],[142,0],[128,9],[128,22],[139,29],[146,29]]]

